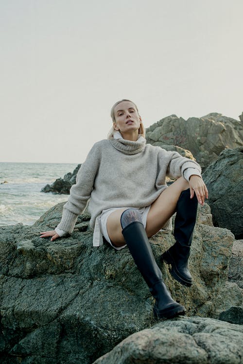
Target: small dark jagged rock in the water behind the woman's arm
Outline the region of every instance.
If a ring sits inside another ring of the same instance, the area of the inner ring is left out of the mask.
[[[76,183],[77,173],[81,167],[81,164],[78,164],[74,169],[73,173],[67,173],[63,178],[56,179],[52,185],[47,184],[45,187],[41,189],[41,192],[54,192],[60,194],[69,194],[70,188],[74,183]]]

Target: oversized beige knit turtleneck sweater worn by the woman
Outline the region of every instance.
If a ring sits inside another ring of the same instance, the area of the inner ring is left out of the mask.
[[[146,144],[142,137],[98,141],[82,163],[57,229],[72,232],[89,199],[91,228],[104,209],[149,206],[167,188],[166,176],[179,178],[186,171],[201,175],[195,161]]]

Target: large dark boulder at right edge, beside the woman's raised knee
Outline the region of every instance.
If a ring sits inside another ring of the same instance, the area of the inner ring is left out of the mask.
[[[203,173],[213,224],[243,239],[243,148],[226,149]]]

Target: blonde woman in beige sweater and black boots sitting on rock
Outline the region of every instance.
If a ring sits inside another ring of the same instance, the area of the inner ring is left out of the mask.
[[[175,244],[162,255],[171,264],[171,274],[191,286],[187,262],[196,221],[197,201],[203,205],[208,190],[201,168],[177,152],[146,144],[137,106],[123,99],[111,109],[113,127],[108,139],[94,144],[82,164],[76,185],[70,189],[61,223],[41,233],[51,241],[72,232],[77,216],[89,201],[93,245],[102,237],[115,249],[128,246],[139,271],[155,297],[154,314],[170,318],[186,312],[168,292],[148,238],[174,223]],[[166,175],[176,178],[169,187]]]

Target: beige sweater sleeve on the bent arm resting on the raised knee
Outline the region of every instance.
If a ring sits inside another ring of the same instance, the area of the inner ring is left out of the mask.
[[[185,158],[177,152],[168,152],[165,150],[163,150],[163,152],[164,152],[163,158],[165,158],[165,160],[167,160],[166,175],[168,177],[176,178],[176,179],[181,176],[185,177],[184,172],[185,172],[185,174],[187,174],[186,170],[190,169],[189,171],[191,171],[191,168],[194,168],[195,174],[198,174],[201,176],[201,171],[202,171],[201,167],[194,160]]]

